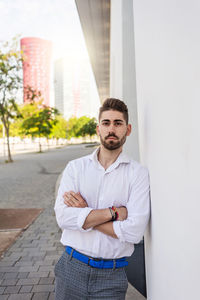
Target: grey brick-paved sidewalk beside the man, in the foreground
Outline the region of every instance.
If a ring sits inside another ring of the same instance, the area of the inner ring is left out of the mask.
[[[64,250],[60,235],[50,207],[0,260],[0,300],[54,299],[54,265]],[[126,300],[143,299],[130,285]]]

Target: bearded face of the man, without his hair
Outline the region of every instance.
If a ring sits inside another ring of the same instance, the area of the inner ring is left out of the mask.
[[[126,124],[123,113],[117,110],[104,111],[101,114],[97,134],[101,144],[108,150],[120,148],[131,133],[131,125]]]

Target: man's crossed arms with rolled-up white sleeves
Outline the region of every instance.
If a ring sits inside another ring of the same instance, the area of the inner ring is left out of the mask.
[[[125,207],[118,207],[119,219],[111,221],[109,208],[88,207],[79,191],[77,176],[69,163],[63,173],[55,203],[56,219],[62,230],[98,230],[120,242],[139,243],[150,215],[148,171],[141,168],[130,187]],[[75,192],[75,193],[73,193]]]

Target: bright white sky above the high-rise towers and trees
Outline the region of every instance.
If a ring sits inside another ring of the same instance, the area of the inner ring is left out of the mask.
[[[74,0],[0,0],[0,41],[11,40],[16,35],[52,41],[53,61],[66,55],[88,59]],[[51,95],[53,105],[53,87]],[[94,98],[95,103],[91,105],[96,115],[97,92]]]

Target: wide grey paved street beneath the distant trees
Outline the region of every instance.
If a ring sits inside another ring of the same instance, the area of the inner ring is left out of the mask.
[[[85,145],[67,146],[41,154],[17,154],[14,162],[8,164],[0,157],[0,207],[52,206],[56,180],[67,162],[92,151],[94,148]]]

